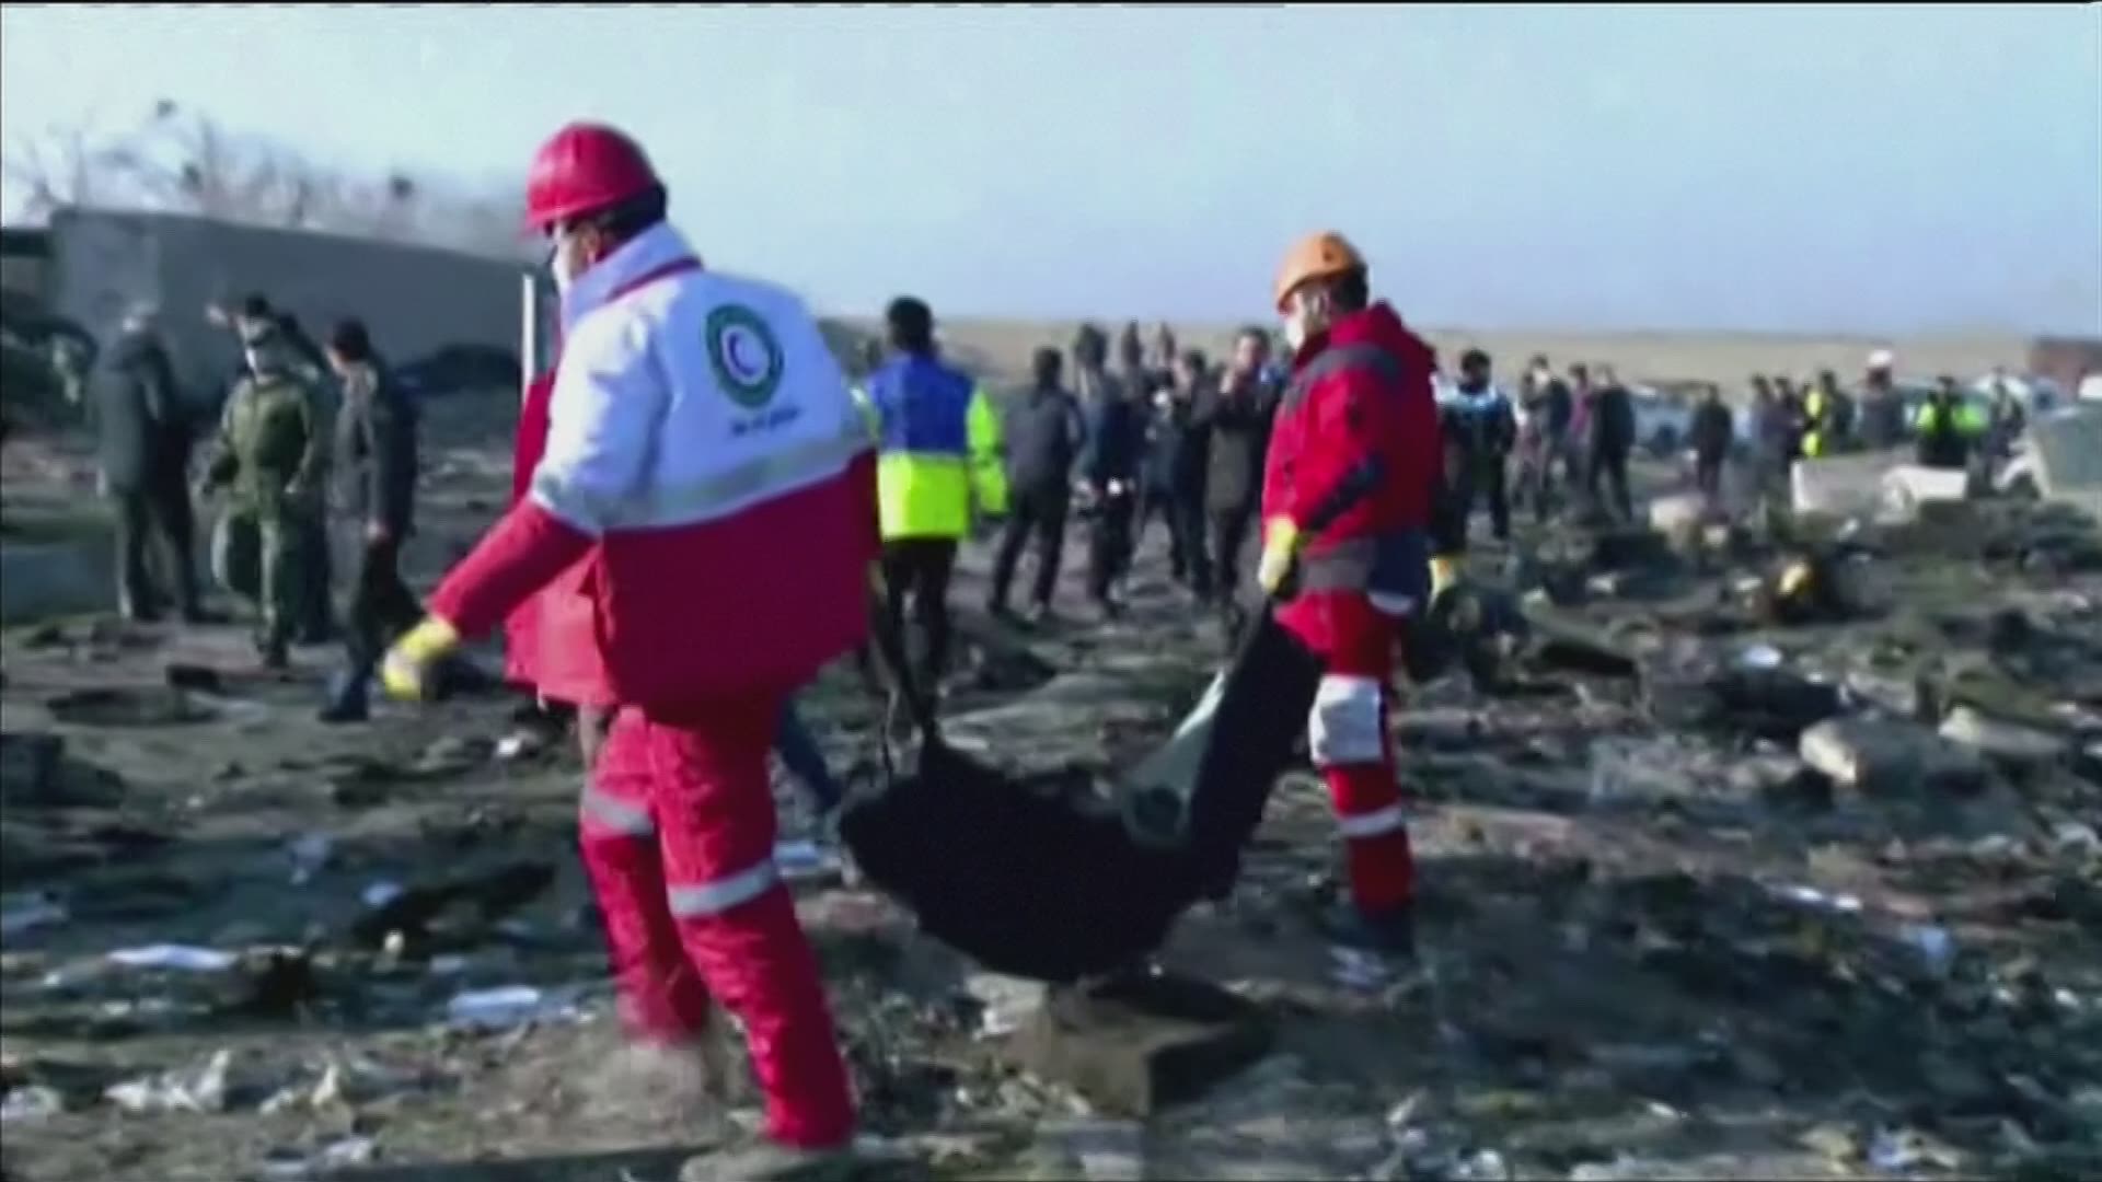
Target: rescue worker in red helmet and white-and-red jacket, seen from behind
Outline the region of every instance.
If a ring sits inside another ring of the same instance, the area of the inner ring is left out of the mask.
[[[874,452],[803,301],[702,269],[664,206],[614,128],[572,124],[534,158],[528,219],[551,242],[563,320],[544,452],[383,679],[420,696],[462,637],[530,602],[549,694],[572,692],[551,675],[559,650],[589,646],[576,700],[618,713],[582,848],[624,1024],[700,1056],[719,1001],[765,1094],[757,1163],[689,1163],[723,1178],[853,1136],[818,963],[774,864],[767,751],[788,694],[866,637]],[[589,629],[551,625],[551,604]]]

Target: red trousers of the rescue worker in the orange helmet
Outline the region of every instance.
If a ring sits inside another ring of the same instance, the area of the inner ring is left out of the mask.
[[[1322,591],[1293,599],[1278,623],[1326,665],[1307,711],[1307,749],[1335,806],[1352,900],[1368,913],[1404,906],[1417,875],[1387,730],[1404,616],[1358,591]]]

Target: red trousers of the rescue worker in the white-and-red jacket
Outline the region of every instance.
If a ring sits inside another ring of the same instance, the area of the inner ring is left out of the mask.
[[[580,839],[626,1026],[683,1043],[721,1001],[744,1024],[767,1136],[830,1148],[853,1136],[853,1098],[818,959],[774,869],[780,709],[759,694],[679,719],[620,711]]]

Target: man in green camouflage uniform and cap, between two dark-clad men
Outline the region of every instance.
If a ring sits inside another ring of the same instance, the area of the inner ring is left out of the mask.
[[[227,395],[204,488],[231,488],[227,511],[254,517],[256,650],[267,669],[284,669],[309,574],[303,568],[311,549],[307,532],[322,513],[326,410],[320,389],[298,376],[298,360],[273,324],[248,322],[240,334],[248,372]]]

